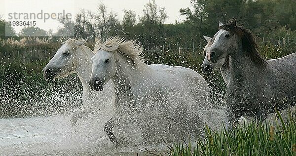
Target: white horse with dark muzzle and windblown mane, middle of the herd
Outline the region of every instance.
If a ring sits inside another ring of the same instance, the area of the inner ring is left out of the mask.
[[[89,84],[103,90],[110,79],[114,83],[115,116],[104,126],[111,142],[120,144],[112,132],[120,122],[140,125],[143,143],[180,141],[186,133],[199,135],[199,115],[210,104],[210,90],[198,73],[185,67],[150,68],[135,40],[98,41],[94,52]]]

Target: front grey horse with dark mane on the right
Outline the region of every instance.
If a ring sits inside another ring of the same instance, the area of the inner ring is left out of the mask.
[[[296,53],[280,59],[265,60],[258,53],[253,34],[231,19],[220,25],[211,40],[207,60],[223,62],[229,58],[227,88],[228,114],[231,123],[241,116],[261,120],[276,107],[281,110],[296,104]]]

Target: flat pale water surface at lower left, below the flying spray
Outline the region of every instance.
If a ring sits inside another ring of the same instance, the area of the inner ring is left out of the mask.
[[[72,126],[67,116],[0,119],[0,156],[135,156],[144,147],[113,148],[98,118]],[[161,149],[164,146],[157,146]]]

